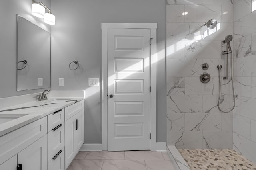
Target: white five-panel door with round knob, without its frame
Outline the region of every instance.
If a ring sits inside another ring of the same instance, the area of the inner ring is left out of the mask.
[[[149,149],[150,30],[108,29],[108,151]]]

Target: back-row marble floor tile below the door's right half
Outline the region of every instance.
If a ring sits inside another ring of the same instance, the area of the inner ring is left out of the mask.
[[[126,151],[125,160],[164,160],[161,152],[151,151]]]

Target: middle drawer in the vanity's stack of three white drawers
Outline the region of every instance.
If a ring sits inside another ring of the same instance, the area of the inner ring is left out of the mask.
[[[58,129],[57,129],[58,128]],[[56,127],[56,130],[48,132],[48,162],[65,146],[65,124]]]

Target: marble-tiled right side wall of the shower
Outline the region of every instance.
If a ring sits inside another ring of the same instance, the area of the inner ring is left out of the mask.
[[[251,0],[234,2],[234,76],[236,87],[233,149],[256,163],[256,11]]]

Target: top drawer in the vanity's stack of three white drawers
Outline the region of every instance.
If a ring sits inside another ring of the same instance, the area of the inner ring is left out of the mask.
[[[60,125],[64,122],[64,109],[58,110],[48,117],[48,132],[50,132],[53,128]]]

